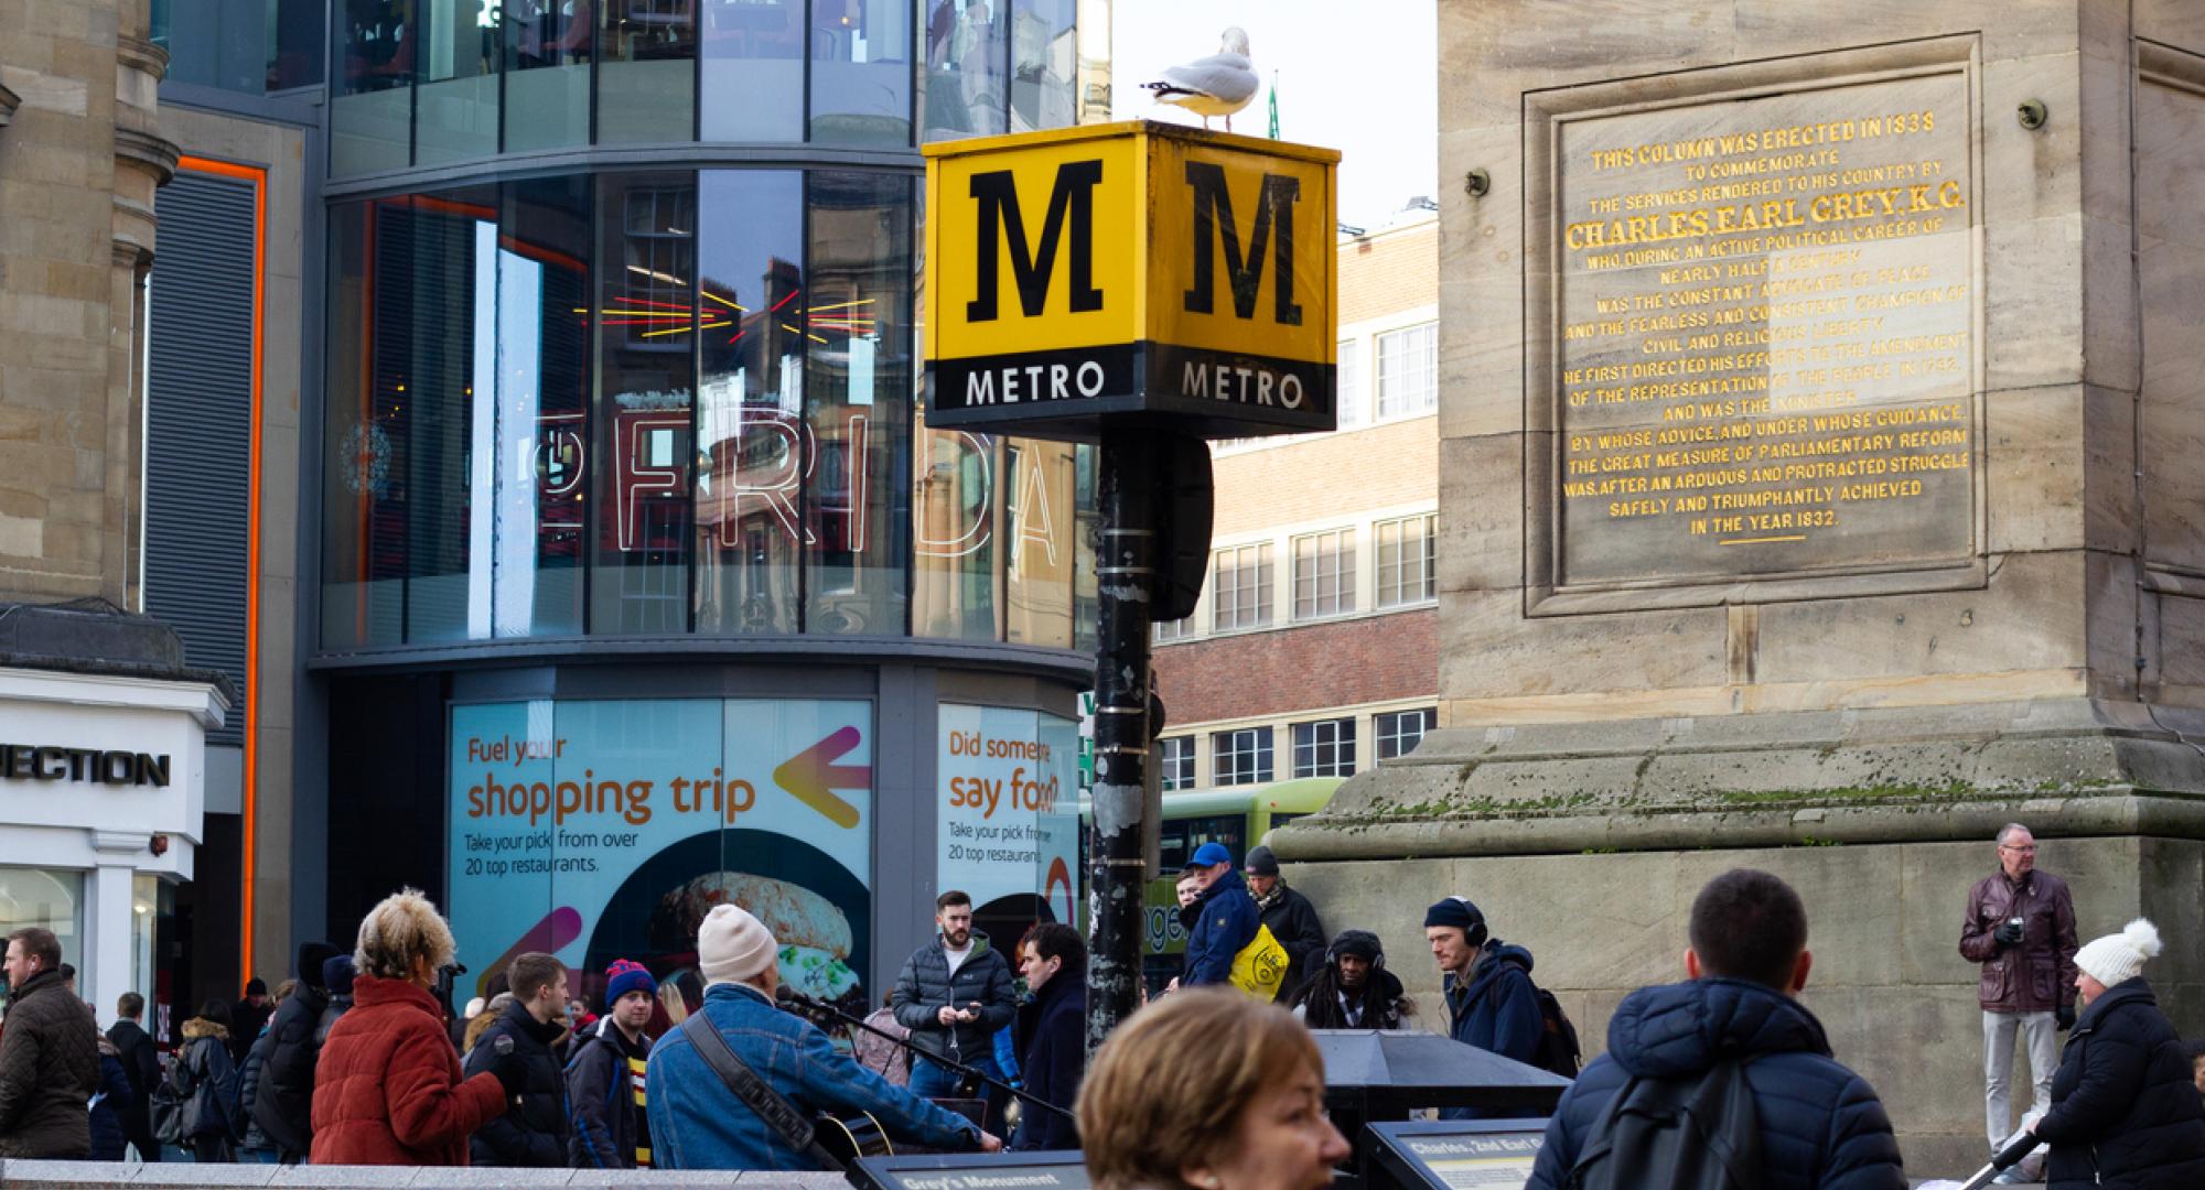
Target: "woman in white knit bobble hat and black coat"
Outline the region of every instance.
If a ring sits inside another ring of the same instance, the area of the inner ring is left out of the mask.
[[[2048,1190],[2205,1186],[2205,1106],[2190,1051],[2141,974],[2156,954],[2159,930],[2141,917],[2075,952],[2082,1016],[2053,1075],[2053,1108],[2035,1126],[2051,1144]]]

